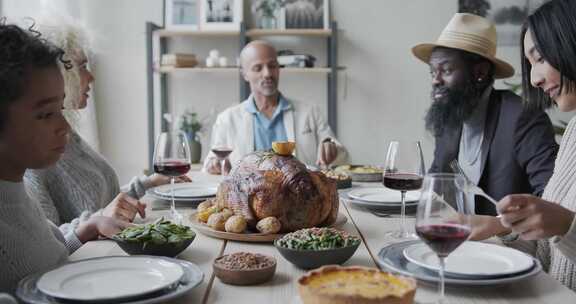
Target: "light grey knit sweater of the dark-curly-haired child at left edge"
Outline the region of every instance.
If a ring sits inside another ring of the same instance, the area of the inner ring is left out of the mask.
[[[46,220],[23,183],[0,181],[0,292],[13,293],[20,279],[64,263],[81,245]]]

